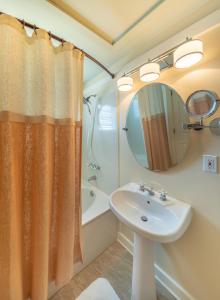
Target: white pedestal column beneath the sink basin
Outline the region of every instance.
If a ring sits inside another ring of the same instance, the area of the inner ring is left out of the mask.
[[[156,300],[154,242],[134,233],[132,300]]]

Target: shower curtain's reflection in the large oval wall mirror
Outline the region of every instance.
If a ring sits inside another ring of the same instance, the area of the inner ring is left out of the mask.
[[[163,96],[158,85],[138,93],[148,168],[155,171],[167,170],[172,165]]]

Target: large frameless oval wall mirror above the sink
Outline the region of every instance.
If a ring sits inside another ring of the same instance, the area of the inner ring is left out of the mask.
[[[180,163],[188,149],[189,122],[184,102],[168,85],[154,83],[133,97],[126,119],[130,149],[140,165],[165,171]]]

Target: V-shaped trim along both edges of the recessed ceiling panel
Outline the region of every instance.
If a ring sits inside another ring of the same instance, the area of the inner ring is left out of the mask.
[[[144,20],[148,15],[150,15],[158,6],[160,6],[165,0],[157,0],[150,8],[148,8],[143,15],[141,15],[137,20],[135,20],[130,26],[128,26],[122,33],[120,33],[115,39],[110,35],[96,26],[87,18],[79,14],[72,6],[65,3],[65,0],[47,0],[52,5],[57,7],[59,10],[63,11],[77,22],[79,22],[84,27],[91,30],[93,33],[98,35],[101,39],[105,40],[107,43],[114,45],[120,41],[126,34],[128,34],[134,27],[136,27],[142,20]]]

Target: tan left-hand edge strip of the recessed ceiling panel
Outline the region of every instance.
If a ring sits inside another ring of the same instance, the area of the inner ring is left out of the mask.
[[[64,13],[75,19],[77,22],[91,30],[93,33],[97,34],[100,38],[108,42],[109,44],[113,43],[113,39],[104,31],[102,31],[95,24],[90,22],[88,19],[80,15],[74,8],[66,4],[63,0],[47,0],[52,5],[56,6],[58,9],[62,10]]]

